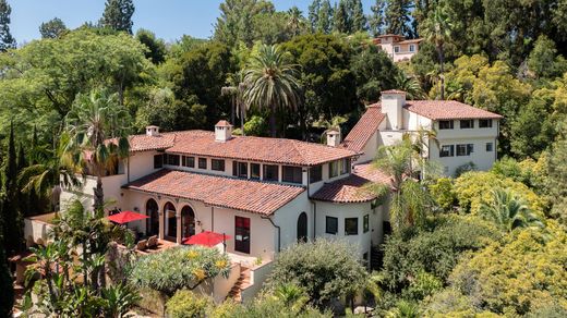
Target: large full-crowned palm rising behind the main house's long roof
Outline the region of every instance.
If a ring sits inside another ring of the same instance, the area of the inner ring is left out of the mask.
[[[246,105],[263,109],[269,107],[272,136],[276,137],[276,110],[298,109],[301,88],[297,65],[286,62],[286,54],[277,46],[261,46],[245,71],[249,87],[244,93]]]

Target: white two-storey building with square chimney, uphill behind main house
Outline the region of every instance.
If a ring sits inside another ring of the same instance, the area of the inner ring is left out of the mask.
[[[459,101],[406,100],[405,91],[386,90],[381,102],[367,107],[342,147],[360,155],[355,162],[367,162],[379,146],[425,130],[436,136],[424,140],[427,147],[422,155],[438,162],[445,174],[453,175],[457,168],[471,162],[479,170],[487,170],[497,159],[500,119],[499,114]]]

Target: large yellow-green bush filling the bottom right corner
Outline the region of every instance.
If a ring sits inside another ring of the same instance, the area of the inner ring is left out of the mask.
[[[498,314],[524,315],[556,301],[567,308],[567,235],[556,224],[548,228],[547,234],[521,231],[470,255],[455,268],[450,284]]]

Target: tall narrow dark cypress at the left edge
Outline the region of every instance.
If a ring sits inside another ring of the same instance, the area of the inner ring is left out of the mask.
[[[14,140],[14,124],[10,125],[8,142],[8,160],[4,167],[4,204],[2,207],[5,237],[5,253],[12,255],[20,252],[23,243],[23,219],[17,204],[17,156]]]

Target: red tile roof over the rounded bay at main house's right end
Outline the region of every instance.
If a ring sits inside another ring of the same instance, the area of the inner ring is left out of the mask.
[[[358,164],[351,175],[323,185],[311,198],[341,204],[371,201],[377,198],[373,192],[364,188],[371,182],[391,184],[390,178],[372,167],[372,163]]]

